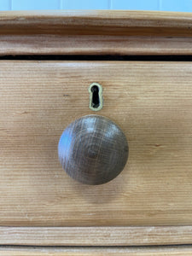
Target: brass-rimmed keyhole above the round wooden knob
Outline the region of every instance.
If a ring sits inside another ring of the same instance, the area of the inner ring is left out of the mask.
[[[90,84],[90,109],[98,111],[102,108],[102,85],[98,83]]]

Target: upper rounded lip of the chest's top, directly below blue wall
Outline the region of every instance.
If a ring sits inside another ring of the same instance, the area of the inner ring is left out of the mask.
[[[192,36],[189,13],[150,11],[2,12],[0,34]]]

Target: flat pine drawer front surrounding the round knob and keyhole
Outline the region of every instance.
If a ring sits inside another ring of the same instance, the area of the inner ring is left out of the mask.
[[[125,132],[130,156],[109,183],[75,182],[57,143],[93,113]],[[192,64],[137,61],[0,61],[0,225],[192,224]]]

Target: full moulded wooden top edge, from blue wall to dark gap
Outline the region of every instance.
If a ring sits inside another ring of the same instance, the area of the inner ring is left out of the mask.
[[[191,55],[188,13],[0,13],[0,55]]]

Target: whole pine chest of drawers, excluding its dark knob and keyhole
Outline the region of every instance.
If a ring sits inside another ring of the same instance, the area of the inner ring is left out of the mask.
[[[152,255],[120,246],[190,244],[191,15],[4,12],[0,25],[0,245]],[[102,85],[97,112],[92,83]],[[124,170],[95,186],[68,177],[57,154],[62,131],[90,114],[113,120],[129,143]],[[74,252],[53,255],[62,253]]]

